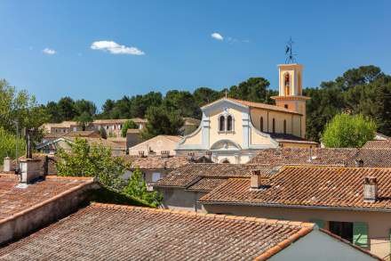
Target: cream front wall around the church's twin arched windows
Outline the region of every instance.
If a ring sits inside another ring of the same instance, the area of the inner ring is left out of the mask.
[[[223,113],[221,110],[213,111],[210,114],[210,146],[220,140],[230,140],[242,146],[243,144],[243,127],[242,127],[242,111],[228,108],[227,112],[234,117],[234,131],[219,132],[219,116]]]

